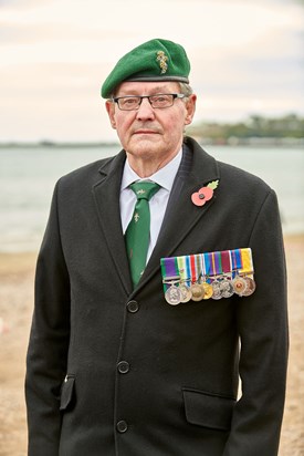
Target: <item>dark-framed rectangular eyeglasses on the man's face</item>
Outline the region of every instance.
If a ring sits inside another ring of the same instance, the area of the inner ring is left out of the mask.
[[[158,93],[157,95],[126,95],[112,99],[114,103],[117,103],[122,111],[136,111],[144,99],[148,99],[151,107],[164,108],[170,107],[176,99],[184,99],[184,93]]]

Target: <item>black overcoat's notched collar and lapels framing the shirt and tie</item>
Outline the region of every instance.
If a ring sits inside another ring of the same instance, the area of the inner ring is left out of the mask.
[[[125,158],[125,152],[120,151],[118,155],[99,168],[102,179],[93,186],[93,195],[116,273],[123,281],[127,294],[132,294],[132,281],[119,211],[119,191]],[[134,293],[159,270],[160,258],[174,253],[192,227],[213,204],[214,198],[202,207],[195,206],[191,201],[192,193],[217,179],[220,179],[217,160],[208,155],[195,139],[186,137],[182,160],[174,183],[158,241]]]

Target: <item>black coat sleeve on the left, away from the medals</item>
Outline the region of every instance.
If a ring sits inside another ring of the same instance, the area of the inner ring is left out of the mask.
[[[57,456],[60,391],[70,340],[70,281],[60,239],[57,186],[39,252],[27,355],[29,456]]]

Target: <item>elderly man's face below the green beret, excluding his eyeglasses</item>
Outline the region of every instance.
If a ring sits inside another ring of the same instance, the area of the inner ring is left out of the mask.
[[[115,96],[180,93],[176,82],[124,82]],[[122,111],[116,103],[106,102],[113,128],[130,160],[158,160],[165,166],[180,149],[185,125],[195,114],[196,95],[186,101],[176,99],[172,106],[151,107],[144,99],[137,111]]]

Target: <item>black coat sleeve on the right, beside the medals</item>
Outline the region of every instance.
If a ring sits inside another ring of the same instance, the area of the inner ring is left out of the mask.
[[[256,290],[238,307],[242,391],[223,456],[277,455],[289,333],[285,257],[273,191],[260,210],[250,246]]]

